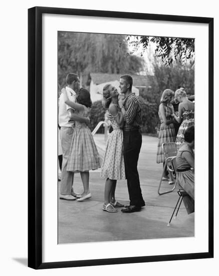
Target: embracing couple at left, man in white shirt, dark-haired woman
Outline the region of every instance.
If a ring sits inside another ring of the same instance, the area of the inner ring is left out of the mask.
[[[100,158],[88,124],[90,93],[80,88],[78,75],[69,73],[59,101],[59,125],[63,152],[60,199],[83,201],[91,197],[89,170],[100,168]],[[82,194],[73,190],[74,173],[80,172]]]

